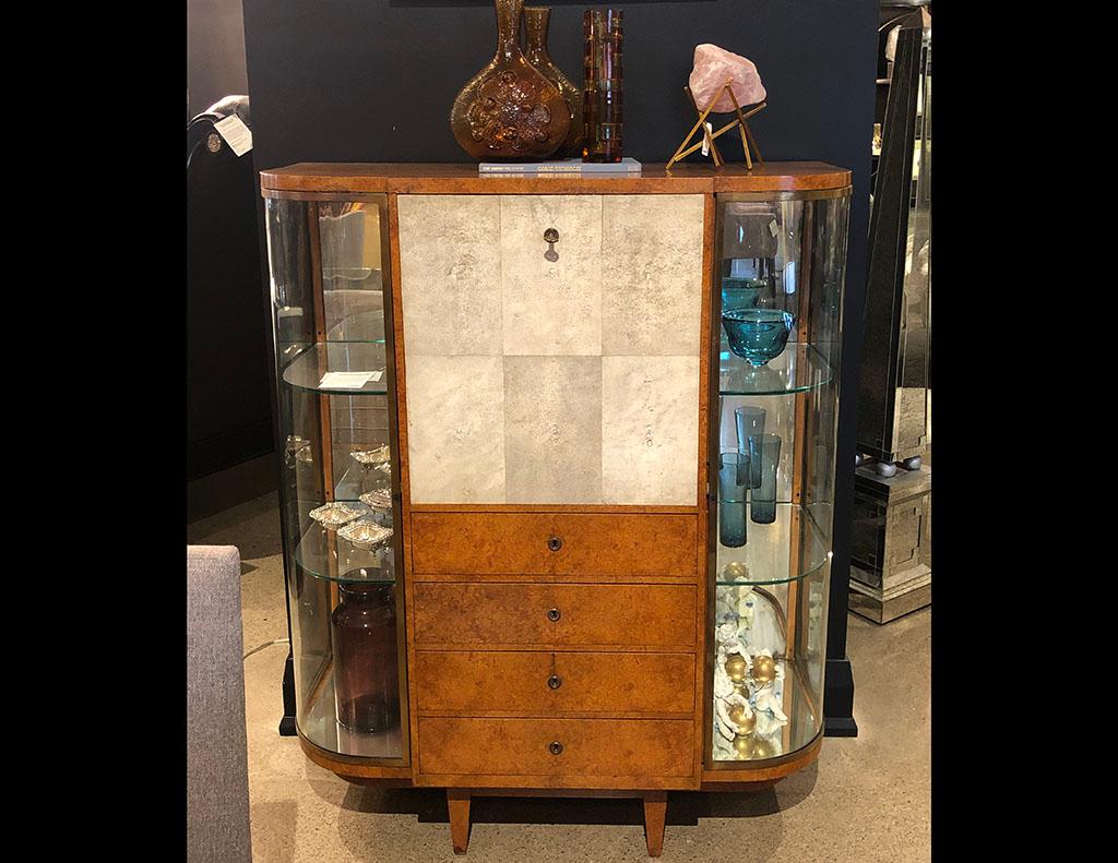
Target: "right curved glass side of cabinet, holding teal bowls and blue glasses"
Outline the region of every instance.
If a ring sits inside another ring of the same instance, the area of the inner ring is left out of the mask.
[[[709,768],[823,728],[849,193],[717,196]]]

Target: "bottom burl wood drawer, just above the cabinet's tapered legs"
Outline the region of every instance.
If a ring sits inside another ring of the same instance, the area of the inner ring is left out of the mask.
[[[691,720],[420,717],[418,724],[426,775],[648,777],[657,787],[693,770]]]

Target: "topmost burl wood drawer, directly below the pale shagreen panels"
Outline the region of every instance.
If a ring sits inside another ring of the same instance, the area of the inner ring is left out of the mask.
[[[414,512],[411,560],[432,573],[693,577],[698,529],[689,514]]]

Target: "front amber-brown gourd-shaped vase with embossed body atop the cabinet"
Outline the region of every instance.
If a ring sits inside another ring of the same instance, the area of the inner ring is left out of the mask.
[[[520,49],[524,0],[493,0],[498,46],[490,64],[462,88],[451,108],[451,131],[480,160],[543,159],[570,131],[559,88]]]

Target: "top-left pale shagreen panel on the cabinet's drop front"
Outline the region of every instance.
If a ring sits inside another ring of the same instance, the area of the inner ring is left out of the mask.
[[[501,353],[501,210],[492,195],[401,195],[400,302],[413,357]]]

